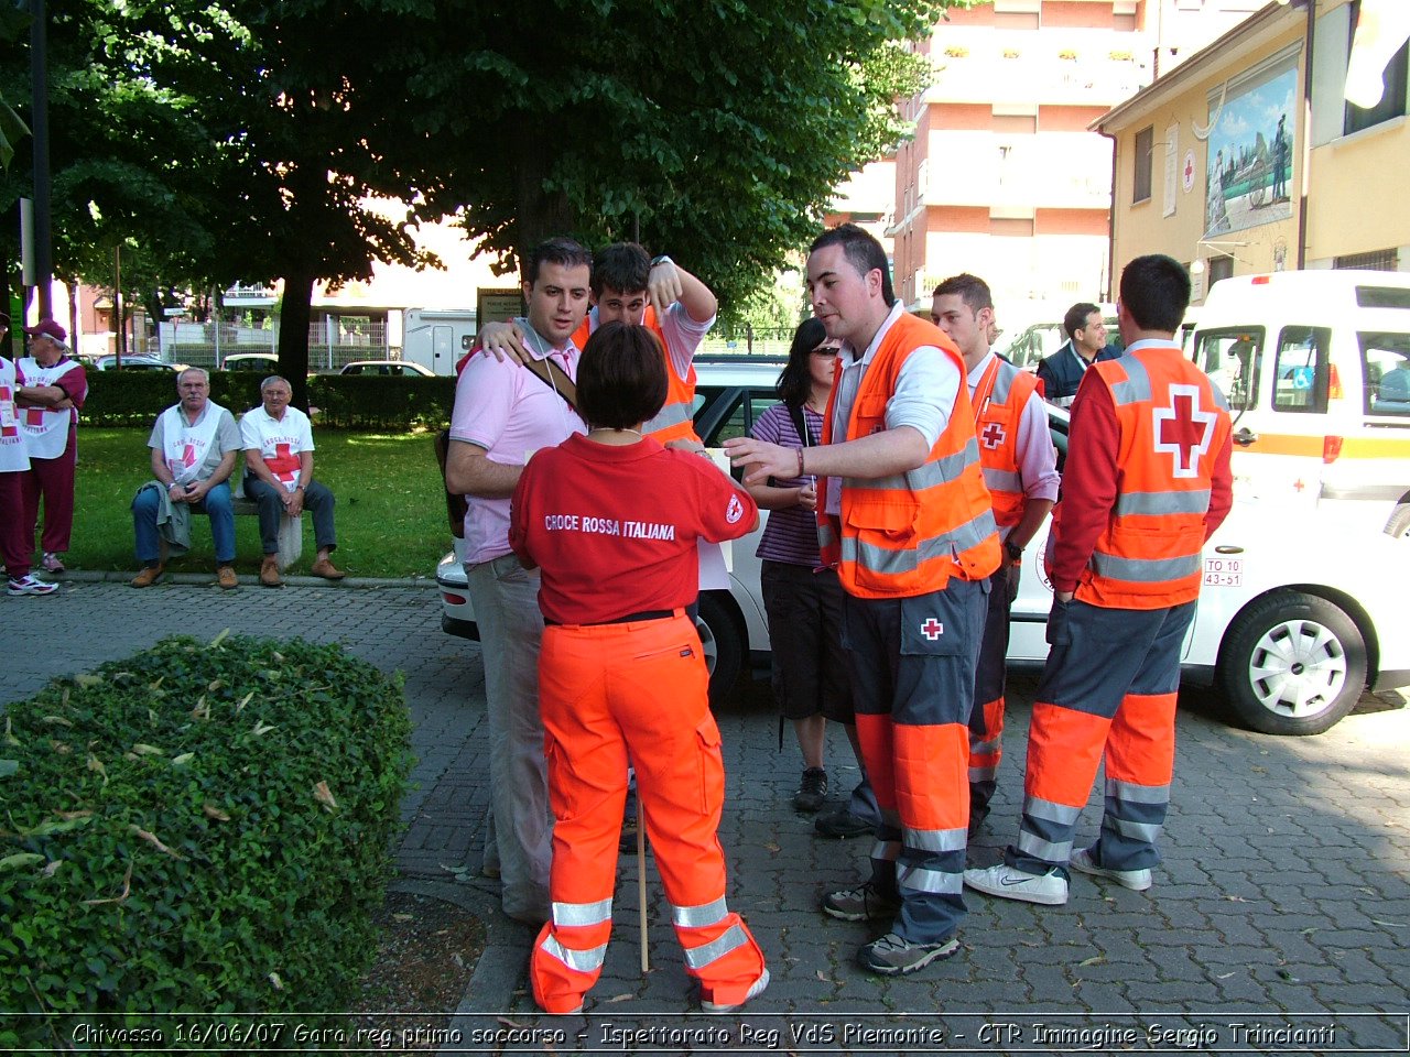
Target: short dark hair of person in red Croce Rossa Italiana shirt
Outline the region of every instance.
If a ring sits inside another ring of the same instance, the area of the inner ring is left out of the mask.
[[[666,351],[646,327],[603,323],[578,361],[578,412],[589,426],[626,430],[666,403]]]

